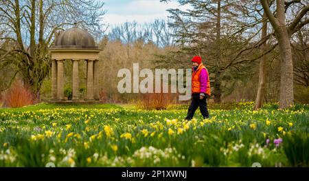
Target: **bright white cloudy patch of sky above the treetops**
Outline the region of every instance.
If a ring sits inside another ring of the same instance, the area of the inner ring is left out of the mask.
[[[161,3],[160,0],[105,0],[104,23],[111,26],[126,21],[138,23],[151,22],[155,19],[167,19],[170,8],[184,9],[179,7],[175,0],[169,3]]]

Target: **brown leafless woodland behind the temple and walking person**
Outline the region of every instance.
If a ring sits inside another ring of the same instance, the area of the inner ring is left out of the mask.
[[[159,0],[158,0],[159,1]],[[161,3],[168,3],[162,1]],[[119,94],[118,70],[190,68],[203,57],[211,77],[211,103],[255,101],[281,108],[309,103],[309,1],[179,0],[192,9],[170,9],[168,20],[104,25],[104,1],[8,0],[0,2],[0,91],[3,106],[51,97],[48,48],[54,34],[78,22],[98,43],[102,103],[158,101],[178,96]],[[290,54],[289,54],[290,53]],[[71,62],[65,63],[65,95],[71,95]],[[140,78],[142,80],[142,78]],[[86,89],[80,63],[80,92]]]

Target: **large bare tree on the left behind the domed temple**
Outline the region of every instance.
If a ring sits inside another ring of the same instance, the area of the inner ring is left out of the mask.
[[[39,98],[41,84],[50,69],[47,49],[52,45],[56,31],[78,22],[82,27],[102,34],[99,22],[104,15],[103,5],[95,0],[1,1],[0,32],[5,30],[5,34],[0,41],[10,46],[0,49],[0,67],[14,65],[16,74],[31,85]],[[8,87],[10,83],[3,89]]]

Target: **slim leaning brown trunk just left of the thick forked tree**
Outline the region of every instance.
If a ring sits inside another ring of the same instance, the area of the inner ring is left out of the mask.
[[[262,36],[261,36],[262,40],[265,39],[267,36],[267,17],[266,17],[265,12],[263,14],[263,18],[264,18],[264,21],[262,23],[263,27],[262,27]],[[263,45],[261,45],[262,52],[266,51],[266,45],[267,45],[266,41],[265,43],[263,43]],[[264,98],[265,98],[265,93],[266,93],[266,74],[267,74],[266,61],[267,61],[267,56],[264,55],[262,59],[260,60],[258,94],[256,95],[255,105],[253,108],[254,110],[261,108],[264,103]]]

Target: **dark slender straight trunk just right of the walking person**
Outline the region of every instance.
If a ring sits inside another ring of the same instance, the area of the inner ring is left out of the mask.
[[[216,23],[216,67],[214,72],[214,102],[221,102],[221,84],[220,84],[220,62],[221,62],[221,49],[220,49],[220,39],[221,39],[221,1],[218,0],[218,9],[217,9],[217,23]]]

